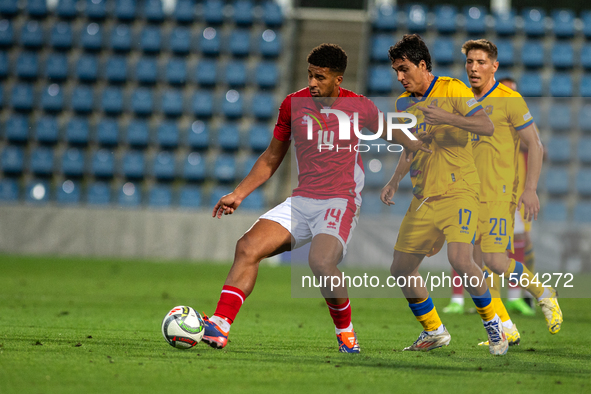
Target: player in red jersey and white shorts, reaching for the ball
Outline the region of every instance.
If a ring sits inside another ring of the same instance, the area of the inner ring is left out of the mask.
[[[340,110],[347,116],[356,112],[359,129],[366,127],[374,132],[380,129],[382,114],[370,100],[340,87],[347,67],[347,55],[342,48],[322,44],[310,52],[307,61],[308,87],[283,100],[269,147],[236,189],[213,208],[213,217],[232,214],[273,175],[291,140],[294,141],[298,186],[291,197],[262,215],[238,240],[234,263],[215,313],[211,318],[205,317],[203,341],[214,348],[226,346],[230,325],[253,290],[262,259],[311,242],[309,265],[313,274],[341,276],[337,264],[345,255],[357,224],[363,163],[359,152],[350,149],[359,143],[359,138],[351,133],[350,139],[341,140],[340,132],[330,131],[340,130],[339,119],[321,114],[321,110]],[[311,122],[311,118],[317,123]],[[309,130],[309,123],[316,128],[320,125],[320,130]],[[392,136],[411,152],[428,151],[401,130],[393,130]],[[324,149],[319,149],[321,146]],[[321,288],[321,293],[335,324],[339,351],[358,353],[347,288]]]

